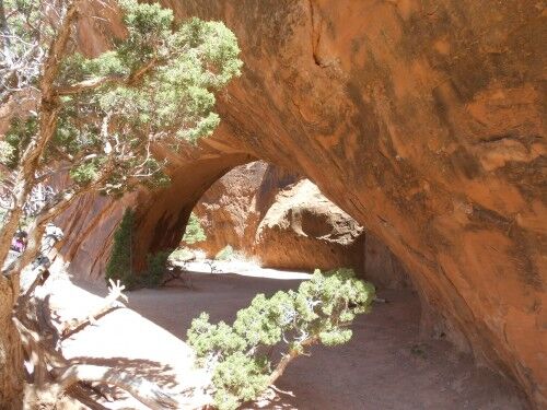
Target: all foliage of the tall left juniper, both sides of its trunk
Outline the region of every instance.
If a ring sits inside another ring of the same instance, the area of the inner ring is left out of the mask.
[[[47,55],[57,26],[44,17],[50,15],[46,5],[4,0],[7,30],[21,38],[10,44],[13,56],[28,55],[34,44],[39,52],[33,48],[33,55]],[[154,159],[153,145],[177,150],[210,136],[220,121],[214,93],[240,75],[243,65],[235,35],[221,22],[175,22],[173,11],[158,3],[118,0],[118,5],[127,36],[113,38],[96,58],[61,56],[54,84],[60,94],[57,127],[43,153],[71,163],[77,185],[101,181],[98,188],[110,195],[139,184],[164,187],[165,163]],[[26,86],[36,85],[44,71],[43,60],[32,63],[24,70]],[[0,162],[18,165],[38,120],[39,113],[25,113],[13,121]]]

